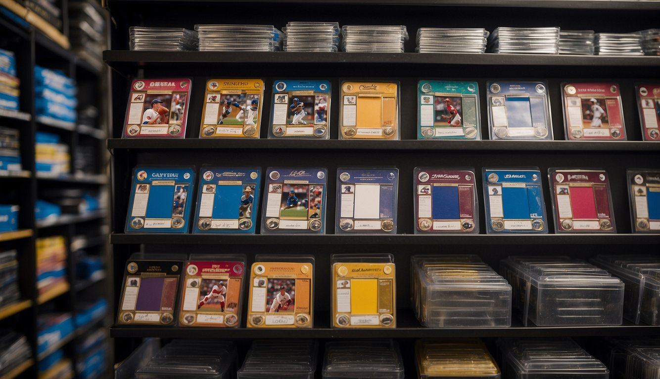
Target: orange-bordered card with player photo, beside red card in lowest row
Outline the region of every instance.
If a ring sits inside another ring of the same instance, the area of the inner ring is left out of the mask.
[[[314,327],[314,257],[255,256],[249,277],[248,328]]]

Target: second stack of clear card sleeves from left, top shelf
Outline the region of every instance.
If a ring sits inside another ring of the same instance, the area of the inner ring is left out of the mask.
[[[199,51],[280,51],[282,32],[273,25],[195,25]]]

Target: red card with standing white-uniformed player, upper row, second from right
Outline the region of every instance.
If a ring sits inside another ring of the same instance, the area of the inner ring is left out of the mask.
[[[621,92],[615,83],[565,83],[566,139],[626,140]]]

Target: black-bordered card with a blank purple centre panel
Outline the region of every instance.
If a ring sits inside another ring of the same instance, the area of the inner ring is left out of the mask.
[[[134,253],[126,263],[117,324],[172,325],[185,255]]]

